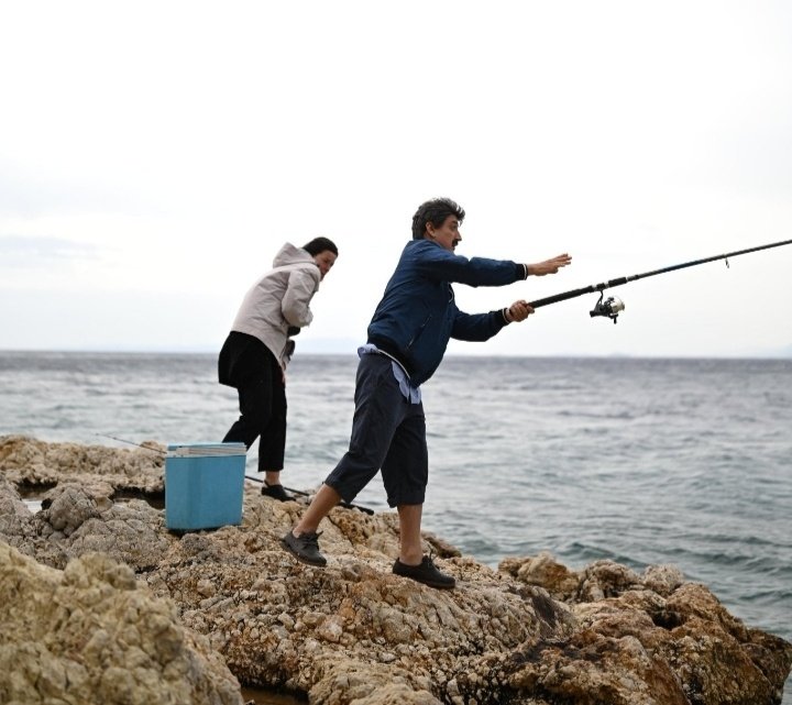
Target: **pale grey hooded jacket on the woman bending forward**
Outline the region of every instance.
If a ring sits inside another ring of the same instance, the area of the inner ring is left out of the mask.
[[[314,257],[287,242],[275,255],[273,268],[245,294],[231,330],[261,340],[285,370],[293,349],[288,328],[314,320],[308,305],[320,279]]]

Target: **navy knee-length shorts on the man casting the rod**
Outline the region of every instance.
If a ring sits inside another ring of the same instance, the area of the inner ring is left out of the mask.
[[[349,451],[324,481],[346,502],[382,470],[391,507],[424,504],[429,477],[422,404],[410,404],[385,355],[361,356]]]

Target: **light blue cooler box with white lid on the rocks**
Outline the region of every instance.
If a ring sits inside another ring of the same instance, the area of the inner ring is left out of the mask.
[[[167,450],[167,529],[193,531],[242,522],[244,443],[175,444]]]

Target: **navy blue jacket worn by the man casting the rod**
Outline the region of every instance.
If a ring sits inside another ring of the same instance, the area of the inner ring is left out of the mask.
[[[430,240],[411,240],[374,311],[369,341],[394,355],[418,386],[435,374],[450,338],[484,341],[506,324],[502,311],[460,311],[451,283],[504,286],[525,276],[515,262],[468,260]]]

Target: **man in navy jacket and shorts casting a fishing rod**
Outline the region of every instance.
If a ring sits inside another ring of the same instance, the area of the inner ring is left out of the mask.
[[[421,548],[428,455],[420,385],[437,370],[450,338],[488,340],[532,309],[518,300],[497,311],[464,313],[457,308],[451,283],[505,286],[529,275],[554,274],[572,261],[566,254],[538,264],[455,255],[463,219],[464,210],[448,198],[422,203],[413,217],[413,241],[374,311],[369,342],[359,350],[349,451],[282,539],[305,563],[327,563],[319,552],[319,522],[341,499],[352,502],[382,470],[388,505],[397,507],[399,517],[399,557],[393,572],[432,587],[455,585]]]

